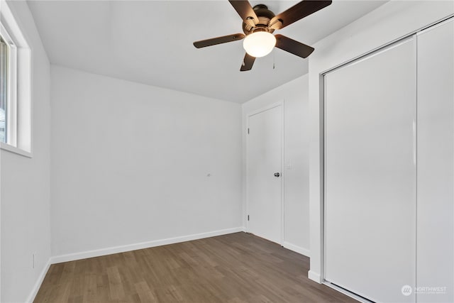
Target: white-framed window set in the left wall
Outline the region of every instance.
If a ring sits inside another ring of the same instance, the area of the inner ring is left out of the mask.
[[[31,48],[0,0],[0,146],[31,157]]]

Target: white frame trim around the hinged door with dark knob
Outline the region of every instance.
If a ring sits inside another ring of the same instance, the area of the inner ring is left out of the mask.
[[[248,136],[248,130],[249,130],[249,119],[251,116],[255,116],[256,114],[260,114],[264,111],[267,111],[269,109],[274,109],[276,107],[280,107],[281,110],[281,169],[280,169],[280,178],[281,178],[281,214],[280,214],[280,228],[281,228],[281,237],[280,237],[280,242],[279,244],[281,246],[284,245],[284,180],[285,180],[285,174],[283,172],[284,170],[284,105],[285,101],[282,99],[282,101],[277,101],[272,104],[268,104],[267,106],[264,106],[260,109],[256,109],[254,111],[250,111],[248,114],[246,114],[246,153],[245,153],[245,172],[246,172],[246,178],[245,178],[245,201],[246,201],[246,206],[245,206],[245,218],[246,218],[246,232],[250,232],[249,230],[249,220],[248,220],[248,214],[249,214],[249,184],[248,184],[248,179],[249,179],[249,163],[248,163],[248,155],[249,155],[249,136]]]

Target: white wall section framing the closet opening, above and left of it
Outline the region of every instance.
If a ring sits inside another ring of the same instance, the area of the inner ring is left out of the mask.
[[[320,75],[454,13],[452,1],[389,1],[315,45],[309,65],[311,270],[323,281],[323,127]]]

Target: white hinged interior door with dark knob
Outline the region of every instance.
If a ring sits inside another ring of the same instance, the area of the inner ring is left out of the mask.
[[[248,231],[282,242],[282,106],[248,117]]]

